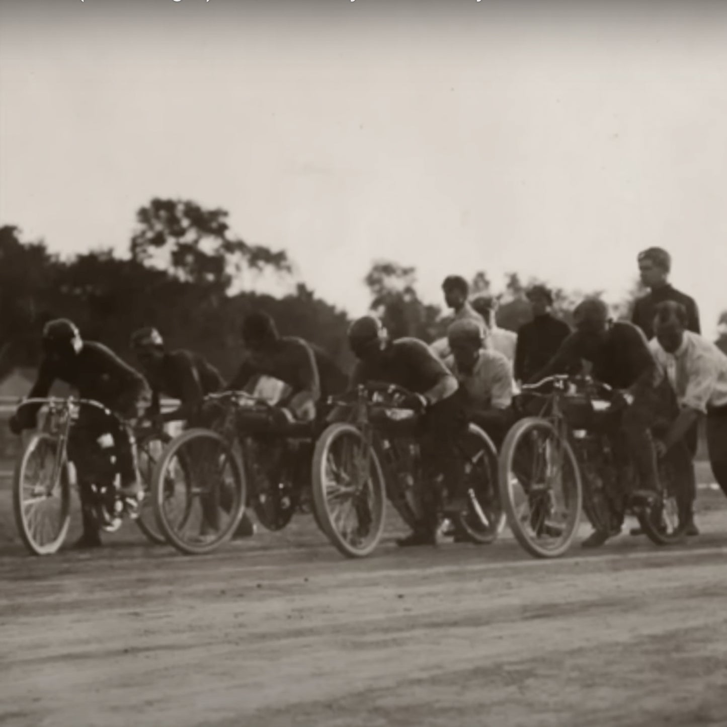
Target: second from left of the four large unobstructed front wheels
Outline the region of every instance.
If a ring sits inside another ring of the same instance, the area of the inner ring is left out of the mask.
[[[212,553],[236,531],[246,491],[243,467],[227,441],[212,430],[187,430],[164,449],[154,470],[159,531],[182,553]]]

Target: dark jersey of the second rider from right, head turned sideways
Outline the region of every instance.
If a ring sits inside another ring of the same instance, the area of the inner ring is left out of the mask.
[[[400,338],[388,345],[374,361],[359,361],[351,374],[351,382],[357,385],[377,381],[424,394],[451,375],[424,342]]]

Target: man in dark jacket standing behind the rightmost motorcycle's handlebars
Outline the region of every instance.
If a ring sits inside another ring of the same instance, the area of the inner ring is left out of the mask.
[[[533,320],[518,331],[515,348],[515,380],[528,381],[550,361],[571,329],[565,321],[553,316],[553,294],[544,285],[528,291]]]

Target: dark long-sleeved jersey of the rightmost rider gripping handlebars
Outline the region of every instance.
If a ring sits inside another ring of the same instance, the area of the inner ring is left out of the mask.
[[[571,333],[558,353],[531,381],[566,373],[582,358],[593,364],[591,374],[594,379],[617,389],[628,389],[640,379],[656,378],[656,360],[643,332],[630,323],[618,321],[608,329],[595,351],[587,350],[582,334]]]

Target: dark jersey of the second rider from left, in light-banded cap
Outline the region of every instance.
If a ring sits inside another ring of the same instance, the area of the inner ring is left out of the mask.
[[[159,409],[161,394],[194,405],[225,386],[220,371],[203,356],[183,349],[165,353],[158,368],[148,372],[147,377],[153,390],[154,411]]]

